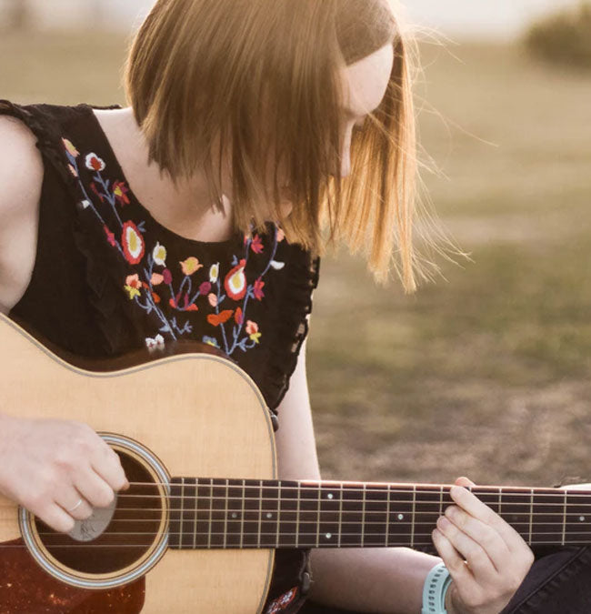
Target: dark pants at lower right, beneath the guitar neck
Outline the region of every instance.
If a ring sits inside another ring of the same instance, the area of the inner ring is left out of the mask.
[[[500,614],[591,614],[591,548],[533,547],[536,560]],[[311,601],[298,614],[351,614]]]

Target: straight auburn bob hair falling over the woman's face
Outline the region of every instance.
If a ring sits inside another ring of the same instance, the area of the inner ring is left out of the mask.
[[[394,267],[414,291],[412,41],[395,2],[157,0],[135,33],[124,76],[150,162],[175,183],[202,169],[220,203],[222,155],[231,146],[235,229],[264,232],[272,201],[289,241],[314,255],[345,243],[364,253],[376,281],[386,283]],[[354,131],[351,173],[341,177],[339,73],[385,45],[394,48],[386,95]],[[280,169],[294,196],[288,216],[278,206]]]

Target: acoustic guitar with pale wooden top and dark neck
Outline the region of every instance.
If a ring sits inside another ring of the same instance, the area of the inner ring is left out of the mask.
[[[42,578],[89,594],[142,579],[141,611],[150,614],[253,614],[265,603],[275,549],[436,553],[431,531],[453,504],[451,485],[277,480],[265,401],[212,347],[146,348],[99,370],[58,356],[1,314],[0,339],[2,411],[87,423],[118,453],[131,484],[69,534],[0,496],[0,561],[25,553]],[[471,490],[528,544],[590,541],[591,491]],[[31,611],[3,609],[7,584],[0,577],[0,611]]]

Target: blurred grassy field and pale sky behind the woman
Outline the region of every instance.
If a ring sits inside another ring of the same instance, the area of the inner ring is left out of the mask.
[[[0,0],[0,98],[125,105],[150,5]],[[473,262],[405,297],[325,258],[307,359],[324,477],[591,482],[591,8],[405,8],[426,191]]]

